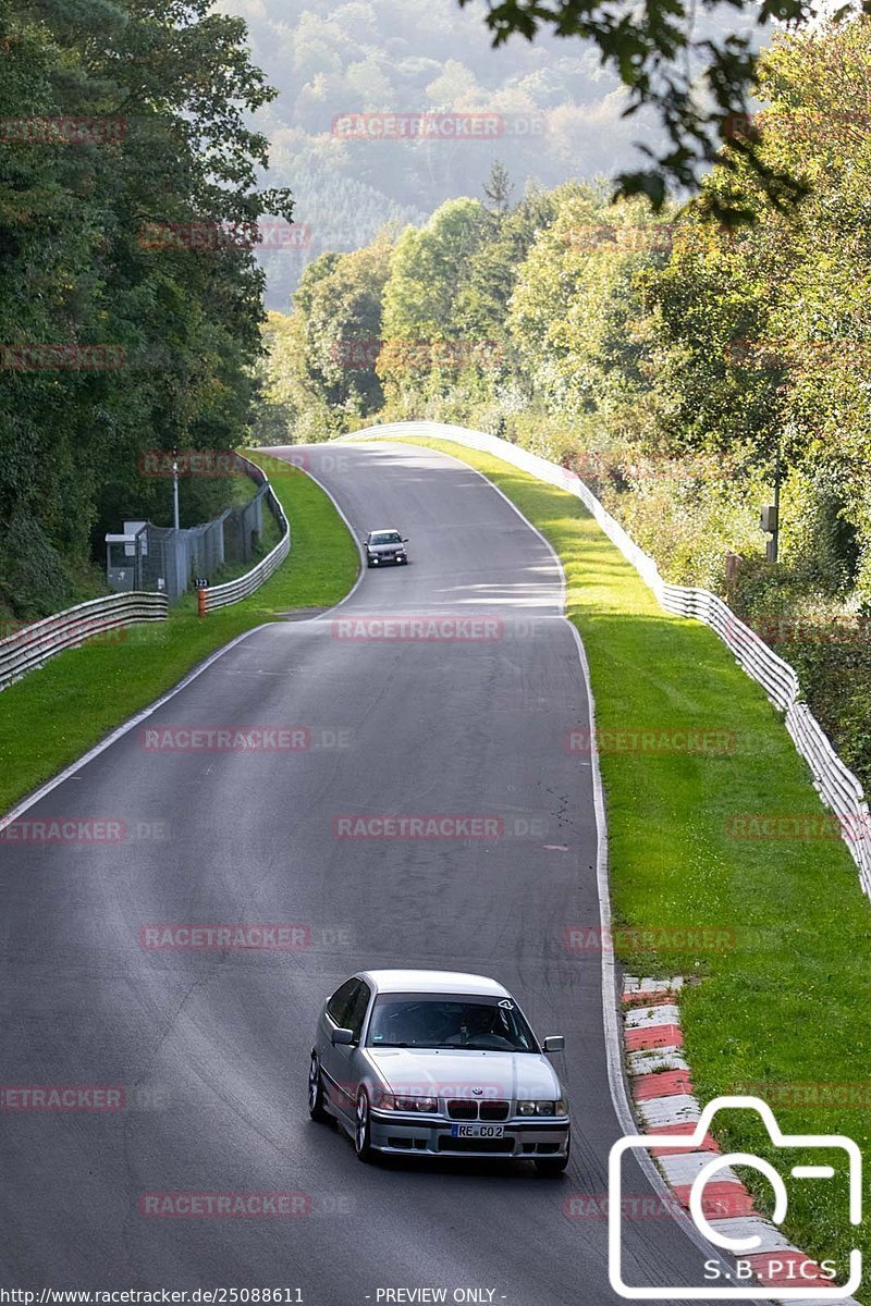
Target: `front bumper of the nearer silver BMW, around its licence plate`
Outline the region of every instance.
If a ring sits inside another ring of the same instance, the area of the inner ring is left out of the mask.
[[[372,1147],[380,1152],[414,1156],[503,1157],[534,1161],[535,1157],[562,1157],[568,1147],[568,1117],[552,1119],[511,1119],[503,1123],[500,1139],[454,1139],[452,1130],[460,1121],[444,1117],[427,1119],[423,1114],[400,1111],[370,1114]]]

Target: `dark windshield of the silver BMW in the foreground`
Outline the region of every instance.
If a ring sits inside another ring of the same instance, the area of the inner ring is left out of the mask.
[[[513,999],[454,994],[384,994],[376,999],[366,1042],[368,1047],[539,1051]]]

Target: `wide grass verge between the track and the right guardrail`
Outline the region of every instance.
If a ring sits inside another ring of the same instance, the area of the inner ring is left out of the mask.
[[[703,1101],[742,1088],[768,1096],[785,1132],[846,1134],[867,1157],[871,906],[857,868],[838,838],[770,842],[727,833],[736,814],[824,811],[782,717],[713,631],[659,609],[572,495],[453,443],[409,443],[444,449],[483,471],[560,555],[599,733],[734,734],[734,751],[720,756],[602,752],[615,922],[635,930],[709,927],[727,931],[730,942],[716,952],[628,951],[624,940],[618,955],[632,974],[699,981],[680,1006]],[[785,1107],[773,1089],[748,1087],[857,1083],[863,1106],[832,1109]],[[784,1173],[784,1153],[778,1162],[756,1117],[729,1113],[721,1121],[725,1148],[765,1156]],[[827,1160],[842,1169],[840,1157]],[[844,1282],[847,1249],[855,1242],[866,1260],[871,1255],[868,1226],[850,1229],[841,1181],[785,1177],[787,1235],[812,1255],[837,1256]],[[767,1181],[752,1170],[742,1178],[770,1213]]]

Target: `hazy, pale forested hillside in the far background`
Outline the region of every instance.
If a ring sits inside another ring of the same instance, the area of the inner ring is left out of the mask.
[[[656,148],[649,112],[623,118],[626,90],[592,44],[541,34],[494,50],[474,7],[456,0],[221,0],[248,25],[252,59],[279,97],[256,115],[268,180],[293,188],[304,249],[261,253],[266,303],[286,311],[324,251],[368,244],[385,223],[420,226],[445,200],[481,192],[495,159],[542,187],[612,176]],[[752,30],[743,14],[727,20]],[[722,30],[726,20],[701,18]],[[488,112],[490,138],[341,135],[349,114]]]

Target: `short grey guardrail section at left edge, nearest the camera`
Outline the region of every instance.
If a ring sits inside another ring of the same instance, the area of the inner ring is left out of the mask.
[[[167,610],[166,594],[131,592],[91,598],[22,626],[0,640],[0,690],[64,649],[77,648],[135,622],[166,620]]]

